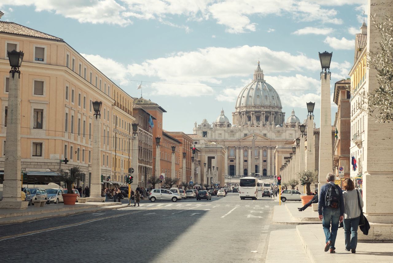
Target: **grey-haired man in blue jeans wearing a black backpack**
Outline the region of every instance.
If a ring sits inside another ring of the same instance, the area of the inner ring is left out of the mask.
[[[327,184],[321,186],[318,201],[318,217],[322,220],[326,237],[325,252],[330,249],[330,253],[336,253],[334,243],[336,242],[338,224],[343,221],[344,217],[343,193],[340,186],[334,184],[334,178],[334,174],[327,174]]]

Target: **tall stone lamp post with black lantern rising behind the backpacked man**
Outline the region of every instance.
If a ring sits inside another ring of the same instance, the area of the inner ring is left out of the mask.
[[[319,52],[318,52],[319,53]],[[319,148],[319,184],[326,183],[326,175],[331,173],[333,166],[332,157],[332,121],[330,106],[330,77],[329,72],[332,54],[327,51],[319,53],[322,72],[321,75],[321,121],[320,121],[320,148]],[[325,70],[325,71],[324,71]],[[327,77],[329,75],[329,78]],[[307,140],[308,141],[308,140]]]

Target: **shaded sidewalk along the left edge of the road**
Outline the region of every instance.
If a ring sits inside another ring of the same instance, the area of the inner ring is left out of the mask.
[[[28,206],[28,208],[22,210],[0,209],[0,225],[123,207],[127,207],[127,205],[122,205],[117,202],[88,202],[84,204],[75,203],[75,205],[47,204],[45,206]]]

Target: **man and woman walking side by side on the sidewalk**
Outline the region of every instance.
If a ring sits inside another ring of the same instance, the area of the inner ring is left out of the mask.
[[[327,174],[327,184],[321,186],[318,199],[318,214],[325,232],[325,252],[336,252],[335,242],[339,223],[343,222],[345,250],[356,253],[358,226],[362,216],[362,195],[351,179],[346,178],[343,190],[334,184],[335,175]]]

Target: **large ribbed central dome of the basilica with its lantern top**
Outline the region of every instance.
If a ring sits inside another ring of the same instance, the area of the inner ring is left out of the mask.
[[[237,97],[235,108],[269,107],[273,111],[281,111],[281,100],[275,89],[264,80],[263,70],[259,66],[254,71],[254,79],[245,86]]]

